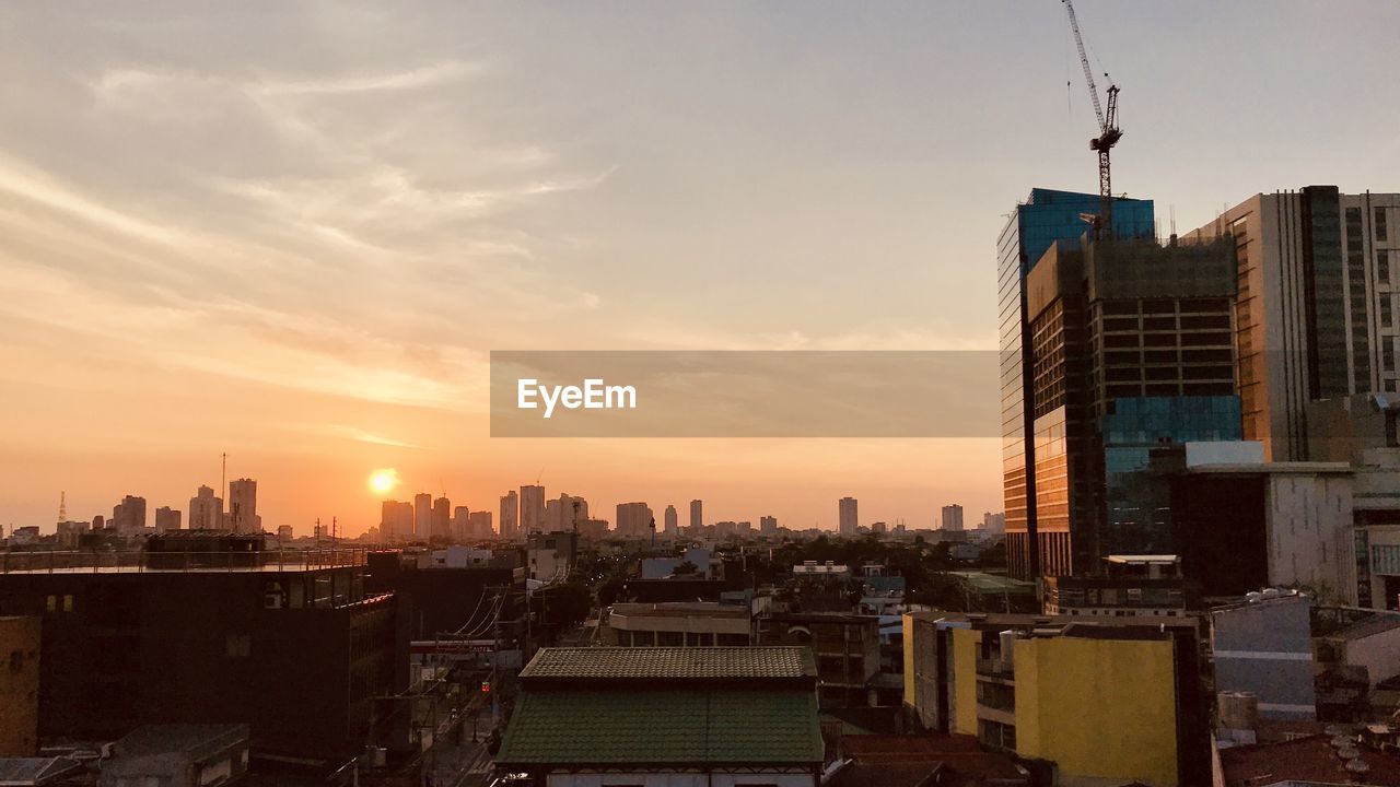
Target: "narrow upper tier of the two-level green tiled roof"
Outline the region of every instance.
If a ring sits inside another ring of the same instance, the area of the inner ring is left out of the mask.
[[[774,679],[815,678],[805,647],[553,647],[521,679]]]

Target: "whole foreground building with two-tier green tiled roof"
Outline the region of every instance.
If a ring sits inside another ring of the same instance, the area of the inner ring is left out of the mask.
[[[816,787],[816,665],[801,647],[545,648],[496,765],[552,787]]]

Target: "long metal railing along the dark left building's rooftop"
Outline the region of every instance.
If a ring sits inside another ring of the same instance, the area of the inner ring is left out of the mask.
[[[109,549],[0,550],[0,574],[143,571],[308,571],[364,566],[365,548],[150,552]]]

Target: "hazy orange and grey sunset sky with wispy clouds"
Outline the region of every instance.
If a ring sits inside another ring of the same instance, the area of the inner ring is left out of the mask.
[[[1400,190],[1400,4],[1075,8],[1163,234]],[[1008,211],[1096,189],[1056,0],[4,4],[0,69],[6,527],[183,510],[224,452],[298,534],[375,525],[381,468],[473,510],[980,520],[994,424],[493,440],[489,353],[994,350]]]

